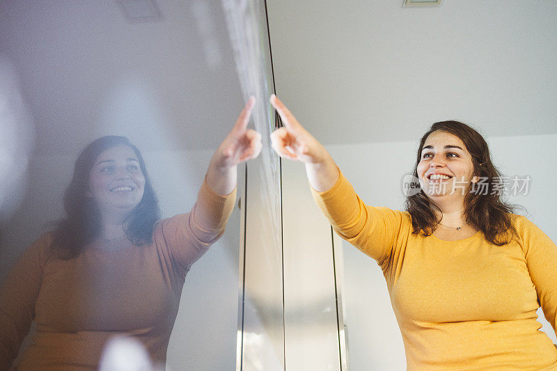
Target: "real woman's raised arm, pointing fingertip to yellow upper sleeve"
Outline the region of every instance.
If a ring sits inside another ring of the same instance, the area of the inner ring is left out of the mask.
[[[283,158],[304,162],[313,198],[338,235],[383,265],[400,229],[409,226],[409,218],[395,210],[366,206],[323,145],[275,95],[271,104],[284,124],[271,134],[273,149]]]

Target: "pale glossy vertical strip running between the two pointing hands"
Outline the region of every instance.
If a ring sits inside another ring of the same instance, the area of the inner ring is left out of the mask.
[[[244,97],[255,95],[253,123],[260,157],[246,164],[242,197],[237,370],[283,370],[283,256],[281,174],[269,143],[275,116],[267,14],[263,1],[223,0]]]

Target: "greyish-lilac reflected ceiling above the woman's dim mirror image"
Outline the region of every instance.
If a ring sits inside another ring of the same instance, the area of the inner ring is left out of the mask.
[[[220,1],[158,5],[161,22],[132,23],[116,0],[0,3],[0,53],[19,72],[36,155],[74,156],[104,134],[217,148],[243,106]]]

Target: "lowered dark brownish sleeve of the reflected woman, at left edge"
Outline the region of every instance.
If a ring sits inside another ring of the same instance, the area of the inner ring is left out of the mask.
[[[47,234],[32,244],[0,288],[0,370],[10,368],[29,333],[50,242]]]

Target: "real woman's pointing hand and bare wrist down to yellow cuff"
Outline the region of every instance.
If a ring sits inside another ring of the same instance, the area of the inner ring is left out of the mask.
[[[304,129],[286,106],[271,95],[270,102],[281,116],[284,126],[271,134],[271,145],[281,157],[304,162],[311,187],[327,191],[338,180],[338,168],[329,152]]]

